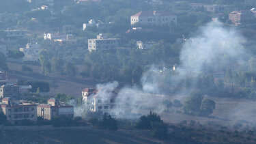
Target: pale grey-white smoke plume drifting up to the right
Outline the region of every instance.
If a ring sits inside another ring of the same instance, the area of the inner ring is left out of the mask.
[[[169,98],[181,99],[180,93],[173,93],[175,87],[181,85],[187,76],[199,77],[203,72],[223,72],[227,67],[240,66],[244,68],[250,55],[244,49],[245,38],[236,29],[225,27],[221,23],[208,23],[198,32],[195,38],[186,40],[180,54],[180,64],[175,72],[169,70],[163,74],[152,66],[141,78],[141,87],[126,86],[118,91],[117,98],[121,107],[112,111],[126,111],[129,113],[144,114],[143,110],[162,113],[165,109],[162,100]],[[225,72],[225,71],[224,71]],[[193,85],[197,83],[197,79]],[[191,89],[193,89],[193,85]],[[99,84],[97,89],[113,91],[118,83]],[[163,87],[174,89],[165,91]],[[107,93],[102,91],[101,96]],[[83,109],[83,108],[82,108]],[[76,115],[81,114],[81,107],[75,109]],[[130,118],[130,115],[126,114]],[[124,117],[124,115],[120,115]]]

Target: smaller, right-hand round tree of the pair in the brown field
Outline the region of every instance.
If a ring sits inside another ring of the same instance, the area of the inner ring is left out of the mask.
[[[208,117],[215,109],[215,102],[213,100],[203,100],[199,115]]]

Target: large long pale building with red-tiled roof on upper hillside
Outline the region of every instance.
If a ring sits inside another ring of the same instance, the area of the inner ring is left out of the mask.
[[[141,11],[130,16],[130,25],[177,25],[177,16],[166,11]]]

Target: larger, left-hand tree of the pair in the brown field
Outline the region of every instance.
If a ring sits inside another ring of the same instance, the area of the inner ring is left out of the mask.
[[[190,114],[197,114],[201,108],[203,95],[201,91],[195,90],[190,93],[189,98],[185,101],[184,112]]]

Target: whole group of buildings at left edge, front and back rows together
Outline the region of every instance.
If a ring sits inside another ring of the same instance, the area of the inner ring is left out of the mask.
[[[0,72],[0,111],[12,124],[19,124],[24,119],[37,121],[37,117],[51,120],[55,117],[74,117],[74,106],[50,98],[47,104],[27,102],[25,96],[32,89],[31,85],[16,85],[14,78],[6,72]]]

